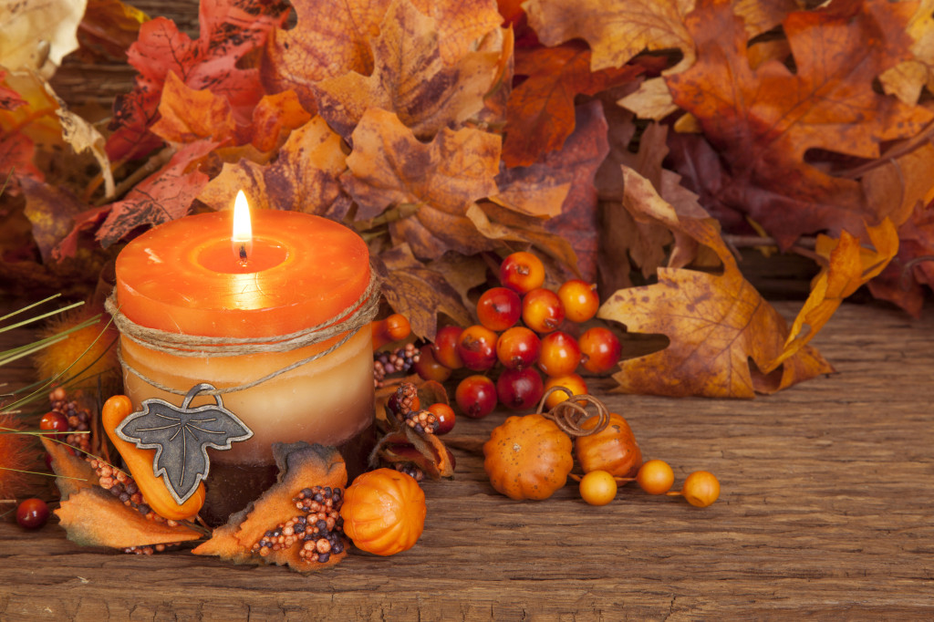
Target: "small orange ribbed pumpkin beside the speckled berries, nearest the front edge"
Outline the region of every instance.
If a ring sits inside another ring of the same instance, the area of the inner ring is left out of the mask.
[[[425,527],[425,492],[395,469],[361,474],[347,488],[341,517],[353,544],[374,555],[395,555],[418,541]]]

